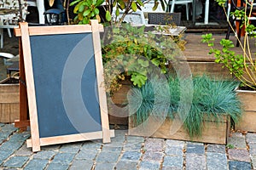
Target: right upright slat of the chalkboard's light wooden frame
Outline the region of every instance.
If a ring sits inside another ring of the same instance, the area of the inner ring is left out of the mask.
[[[103,64],[102,64],[102,48],[101,48],[101,38],[98,20],[90,20],[91,29],[92,29],[92,39],[93,47],[96,61],[96,78],[97,78],[97,88],[99,96],[99,104],[101,110],[101,119],[102,119],[102,133],[103,133],[103,143],[109,143],[110,132],[109,132],[109,122],[108,122],[108,106],[107,106],[107,96],[104,86],[104,77],[103,77]]]

